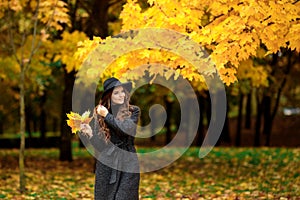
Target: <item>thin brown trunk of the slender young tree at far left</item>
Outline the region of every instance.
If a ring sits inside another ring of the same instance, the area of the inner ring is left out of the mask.
[[[19,170],[20,170],[20,192],[25,192],[25,69],[21,66],[20,72],[20,151],[19,151]]]

